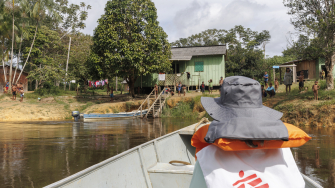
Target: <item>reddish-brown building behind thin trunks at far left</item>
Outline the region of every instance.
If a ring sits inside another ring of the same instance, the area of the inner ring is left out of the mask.
[[[6,86],[6,80],[5,80],[5,76],[4,76],[4,69],[6,72],[6,78],[7,80],[9,80],[9,70],[10,70],[10,66],[5,65],[5,68],[3,67],[3,65],[0,65],[0,93],[4,92],[4,87]],[[13,76],[15,74],[15,68],[13,67]],[[17,78],[20,75],[21,70],[17,69],[16,75],[15,75],[15,82],[17,80]],[[19,81],[17,83],[22,83],[23,85],[23,90],[24,91],[28,91],[28,73],[26,72],[22,72],[22,75],[19,79]]]

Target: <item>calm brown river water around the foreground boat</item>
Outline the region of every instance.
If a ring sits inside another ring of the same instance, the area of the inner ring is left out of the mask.
[[[197,120],[0,123],[0,187],[43,187]],[[304,129],[304,128],[303,128]],[[300,170],[335,187],[335,130],[305,128],[313,139],[292,148]]]

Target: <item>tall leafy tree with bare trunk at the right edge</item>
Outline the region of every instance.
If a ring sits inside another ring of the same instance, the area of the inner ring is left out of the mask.
[[[287,53],[299,59],[325,58],[327,72],[334,69],[335,17],[334,1],[284,0],[291,23],[301,33]],[[298,10],[298,11],[297,11]],[[327,89],[334,89],[333,74],[327,75]]]

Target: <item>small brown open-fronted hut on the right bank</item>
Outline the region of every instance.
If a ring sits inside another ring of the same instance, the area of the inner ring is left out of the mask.
[[[328,75],[324,58],[318,58],[316,60],[295,60],[282,65],[296,65],[297,78],[301,71],[304,71],[306,80],[320,79],[322,70],[325,71],[326,76]],[[333,76],[335,77],[335,69],[333,69]]]

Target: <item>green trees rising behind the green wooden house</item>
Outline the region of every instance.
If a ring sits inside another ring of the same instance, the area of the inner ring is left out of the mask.
[[[238,25],[230,30],[208,29],[188,38],[181,38],[173,42],[172,46],[228,45],[226,76],[242,75],[261,81],[264,71],[268,71],[271,78],[273,65],[295,60],[294,56],[264,59],[264,45],[270,39],[267,30],[257,32]]]

